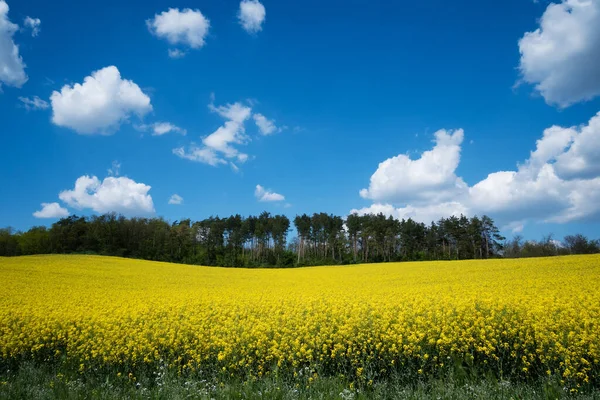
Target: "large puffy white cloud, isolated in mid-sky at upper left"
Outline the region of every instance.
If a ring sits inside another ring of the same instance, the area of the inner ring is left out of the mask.
[[[65,85],[50,96],[52,122],[80,134],[110,135],[132,114],[152,111],[150,97],[115,66],[92,72],[83,84]]]

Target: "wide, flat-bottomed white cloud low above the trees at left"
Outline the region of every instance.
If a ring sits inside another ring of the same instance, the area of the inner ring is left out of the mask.
[[[67,205],[92,209],[99,213],[119,212],[125,215],[154,213],[150,186],[127,177],[109,176],[101,182],[95,176],[81,176],[72,190],[60,192],[58,197]]]

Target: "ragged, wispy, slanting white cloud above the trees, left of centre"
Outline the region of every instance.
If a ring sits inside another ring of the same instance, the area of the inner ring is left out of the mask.
[[[249,140],[244,123],[250,118],[252,109],[241,103],[219,107],[211,103],[209,109],[225,119],[225,123],[204,137],[202,145],[192,144],[187,149],[176,148],[173,149],[173,153],[181,158],[212,166],[230,164],[234,170],[237,170],[237,163],[248,160],[248,154],[240,152],[236,145],[245,144]]]

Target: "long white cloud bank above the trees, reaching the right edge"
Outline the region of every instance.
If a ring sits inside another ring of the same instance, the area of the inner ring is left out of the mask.
[[[351,212],[382,212],[426,223],[450,215],[488,214],[514,231],[529,222],[600,217],[600,113],[583,126],[546,129],[515,170],[492,172],[473,186],[455,174],[462,142],[454,136],[458,132],[437,132],[434,148],[419,160],[399,156],[401,162],[390,162],[394,157],[381,163],[369,189],[361,191],[375,203]],[[440,147],[445,151],[439,153]],[[426,165],[415,166],[417,162]]]

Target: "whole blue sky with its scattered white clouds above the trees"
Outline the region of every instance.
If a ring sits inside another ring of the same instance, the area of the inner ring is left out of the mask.
[[[0,21],[2,226],[357,210],[600,236],[598,0],[0,0]]]

